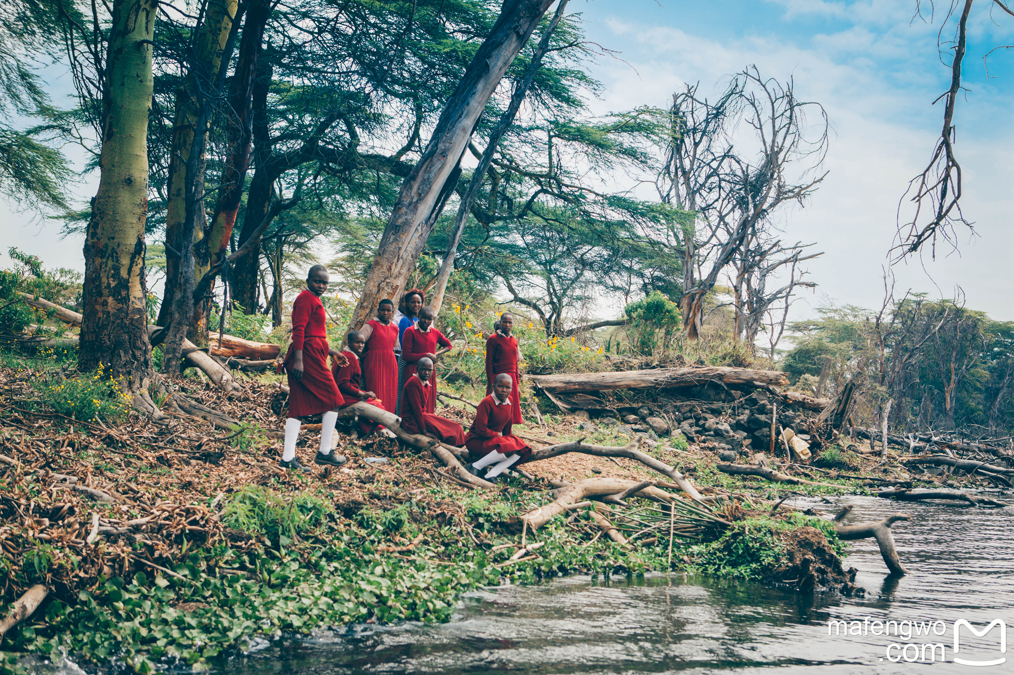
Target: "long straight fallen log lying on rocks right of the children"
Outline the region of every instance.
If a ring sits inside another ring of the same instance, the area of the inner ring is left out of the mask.
[[[722,382],[724,384],[762,382],[776,386],[789,383],[785,373],[773,370],[713,367],[528,375],[527,379],[531,380],[535,386],[552,393],[604,391],[606,389],[667,389],[690,387],[706,382]]]

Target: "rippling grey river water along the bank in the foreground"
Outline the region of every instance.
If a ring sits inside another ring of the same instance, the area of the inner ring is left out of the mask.
[[[876,543],[864,539],[852,542],[846,559],[859,570],[856,582],[866,589],[862,598],[683,575],[608,583],[556,579],[472,593],[442,625],[355,626],[279,642],[219,663],[216,672],[745,674],[773,667],[820,675],[927,668],[933,673],[1014,672],[1014,644],[1011,658],[998,666],[954,661],[1007,658],[1000,652],[999,626],[983,636],[959,627],[959,651],[953,651],[958,619],[980,631],[994,619],[1014,627],[1014,512],[866,497],[836,502],[855,506],[847,524],[898,511],[911,514],[911,521],[894,526],[910,574],[889,578]],[[837,510],[803,499],[795,505]],[[846,630],[859,634],[834,634],[838,627],[828,634],[829,620],[858,621]],[[874,634],[884,629],[878,621],[899,625],[887,624],[889,635]],[[915,622],[915,629],[902,621]],[[920,630],[930,634],[916,634]],[[943,649],[934,653],[923,648],[927,644]]]

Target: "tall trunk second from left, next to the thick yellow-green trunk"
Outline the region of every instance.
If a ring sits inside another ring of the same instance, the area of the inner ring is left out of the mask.
[[[172,302],[179,283],[178,254],[182,253],[183,246],[188,245],[184,240],[183,231],[187,214],[187,185],[189,179],[193,180],[193,176],[188,176],[188,167],[191,152],[195,148],[195,132],[201,126],[201,133],[207,134],[210,123],[210,116],[202,115],[205,107],[202,98],[211,91],[204,89],[213,88],[210,83],[219,79],[223,57],[229,51],[227,49],[229,38],[234,34],[233,23],[236,20],[237,7],[238,0],[225,2],[215,0],[208,3],[206,18],[197,39],[191,73],[187,83],[176,91],[165,213],[165,242],[174,249],[174,252],[166,248],[165,292],[158,312],[158,325],[161,326],[167,326],[172,315]],[[203,150],[204,144],[200,145]],[[204,166],[205,161],[202,156],[197,165],[197,170],[202,175]],[[193,245],[194,235],[203,236],[203,230],[191,233],[190,245]]]

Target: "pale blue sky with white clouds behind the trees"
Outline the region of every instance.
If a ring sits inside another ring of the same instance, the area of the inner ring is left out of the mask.
[[[824,107],[831,126],[827,177],[803,207],[780,220],[787,241],[815,242],[824,251],[808,268],[817,287],[804,291],[793,309],[794,318],[804,318],[827,302],[880,307],[899,200],[929,160],[942,126],[942,103],[932,103],[949,84],[937,47],[947,7],[938,3],[930,15],[924,2],[917,16],[914,0],[571,0],[568,11],[581,14],[589,41],[614,53],[591,65],[604,85],[589,101],[596,115],[664,106],[683,83],[717,93],[723,77],[748,65],[767,77],[791,77],[799,98]],[[952,34],[953,22],[944,39]],[[983,57],[1010,44],[1014,17],[976,4],[966,91],[955,116],[963,213],[974,234],[960,229],[957,250],[942,243],[935,257],[890,268],[898,295],[912,289],[954,297],[960,288],[968,307],[999,320],[1014,320],[1014,51],[994,52],[989,76]],[[69,104],[69,79],[59,67],[47,69],[45,79],[54,102]],[[96,184],[97,176],[86,176],[73,188],[80,203]],[[7,246],[15,245],[47,267],[83,269],[82,241],[60,239],[59,223],[2,204],[0,219],[0,267],[8,264]]]

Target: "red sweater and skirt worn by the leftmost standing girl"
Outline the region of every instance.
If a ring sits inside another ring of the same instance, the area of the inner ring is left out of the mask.
[[[289,417],[302,418],[337,409],[342,394],[328,368],[328,336],[323,326],[327,314],[320,298],[303,291],[292,303],[292,345],[285,355],[289,375]],[[303,351],[303,376],[292,377],[297,350]]]

